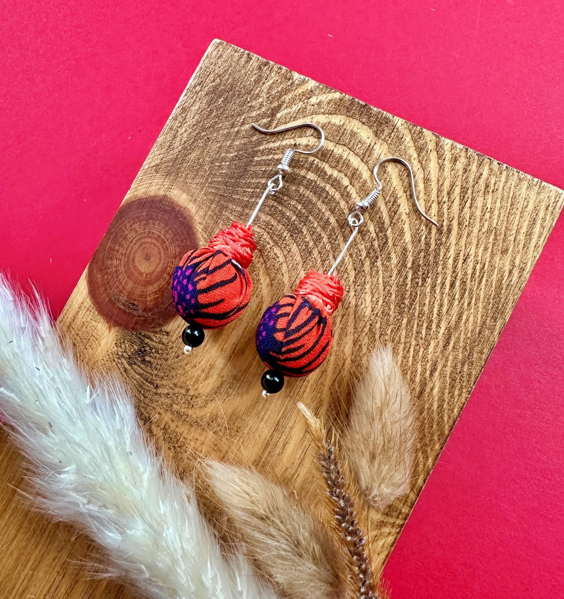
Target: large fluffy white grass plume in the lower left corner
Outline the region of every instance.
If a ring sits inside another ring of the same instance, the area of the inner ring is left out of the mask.
[[[147,445],[128,394],[91,386],[43,307],[0,276],[0,414],[32,465],[35,500],[104,547],[107,574],[152,599],[273,599],[241,555],[225,560],[194,490]]]

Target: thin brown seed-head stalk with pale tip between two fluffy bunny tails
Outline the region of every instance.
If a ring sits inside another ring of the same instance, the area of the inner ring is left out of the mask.
[[[327,484],[336,529],[352,558],[351,570],[357,583],[357,596],[360,599],[379,599],[381,595],[377,590],[378,581],[375,580],[369,556],[365,551],[366,539],[357,523],[354,490],[349,488],[349,483],[343,476],[337,436],[333,432],[331,437],[328,437],[322,420],[313,416],[302,403],[298,403],[298,409],[306,418],[318,452],[317,459]]]

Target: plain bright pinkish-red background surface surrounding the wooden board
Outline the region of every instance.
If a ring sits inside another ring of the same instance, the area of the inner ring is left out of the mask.
[[[58,314],[213,38],[564,187],[564,3],[4,0],[0,267]],[[394,599],[564,597],[564,220],[388,561]]]

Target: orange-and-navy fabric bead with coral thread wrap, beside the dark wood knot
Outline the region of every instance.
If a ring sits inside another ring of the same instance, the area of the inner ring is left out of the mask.
[[[206,247],[186,253],[174,269],[171,288],[180,316],[207,329],[240,316],[251,299],[246,267],[256,247],[251,228],[234,222]]]

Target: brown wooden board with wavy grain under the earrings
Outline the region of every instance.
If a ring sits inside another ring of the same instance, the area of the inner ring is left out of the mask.
[[[315,155],[295,156],[285,186],[255,221],[249,307],[186,356],[185,324],[170,302],[174,265],[232,220],[248,220],[286,148],[316,143],[310,129],[265,136],[250,123],[274,128],[308,120],[324,128],[327,141]],[[390,155],[412,164],[420,203],[439,228],[415,211],[403,167],[382,167],[382,196],[337,270],[345,298],[334,315],[330,355],[314,374],[287,380],[281,394],[264,400],[265,367],[254,347],[263,310],[309,268],[330,267],[349,234],[347,214],[372,188],[373,166]],[[563,199],[559,189],[216,40],[59,326],[82,362],[131,388],[146,430],[180,476],[189,474],[196,450],[251,462],[311,504],[319,489],[295,404],[303,401],[339,426],[367,352],[390,343],[420,408],[420,438],[409,495],[372,514],[370,538],[382,564]]]

